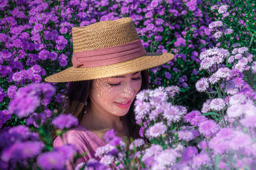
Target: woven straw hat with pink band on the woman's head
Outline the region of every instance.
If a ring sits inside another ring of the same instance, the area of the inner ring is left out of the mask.
[[[48,82],[93,80],[143,71],[173,59],[172,53],[146,53],[131,18],[72,28],[72,67]]]

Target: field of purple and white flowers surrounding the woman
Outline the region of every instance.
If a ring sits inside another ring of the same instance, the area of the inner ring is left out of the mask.
[[[108,131],[101,160],[76,169],[255,169],[255,10],[254,0],[0,0],[1,169],[65,169],[83,156],[53,148],[52,133],[78,120],[61,114],[68,83],[44,78],[72,66],[72,27],[122,17],[147,52],[175,58],[136,96],[141,139]]]

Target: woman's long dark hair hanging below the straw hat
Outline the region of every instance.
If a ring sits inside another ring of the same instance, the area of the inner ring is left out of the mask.
[[[148,70],[141,71],[141,89],[148,89]],[[67,100],[65,101],[63,113],[72,113],[81,121],[84,111],[86,111],[85,103],[90,104],[89,92],[92,87],[93,80],[72,81],[67,88]],[[83,87],[83,88],[81,88]],[[140,92],[140,91],[139,91]],[[135,100],[134,100],[135,101]],[[134,101],[128,113],[121,117],[129,129],[129,138],[140,138],[140,126],[136,124],[134,114]]]

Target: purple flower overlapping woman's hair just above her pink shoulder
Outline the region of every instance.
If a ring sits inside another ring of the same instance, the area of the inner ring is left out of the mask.
[[[52,120],[52,124],[58,129],[70,129],[70,127],[78,125],[78,120],[71,114],[61,114]]]

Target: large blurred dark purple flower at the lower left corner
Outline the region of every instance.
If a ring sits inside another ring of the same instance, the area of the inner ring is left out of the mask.
[[[5,162],[10,160],[21,160],[35,157],[44,148],[42,141],[26,141],[14,143],[10,148],[4,150],[1,159]]]

